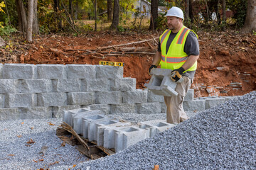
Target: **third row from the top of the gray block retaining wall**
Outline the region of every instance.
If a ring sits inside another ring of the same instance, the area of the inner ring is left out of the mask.
[[[188,100],[190,101],[190,100]],[[136,104],[164,102],[151,91],[97,91],[40,94],[0,94],[0,107],[65,106],[90,104]],[[149,104],[150,105],[150,104]]]

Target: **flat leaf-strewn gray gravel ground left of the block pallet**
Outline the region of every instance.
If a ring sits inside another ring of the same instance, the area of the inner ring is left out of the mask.
[[[0,121],[0,169],[47,169],[87,161],[75,147],[65,145],[55,135],[61,119]],[[53,125],[49,125],[52,123]],[[31,140],[35,143],[28,144]],[[43,154],[41,148],[47,146]]]

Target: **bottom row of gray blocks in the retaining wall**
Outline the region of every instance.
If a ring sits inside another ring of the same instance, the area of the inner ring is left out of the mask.
[[[208,108],[213,108],[218,104],[234,97],[225,98],[202,98],[194,99],[193,101],[184,101],[183,108],[185,111],[197,112],[204,111]],[[16,119],[31,119],[31,118],[62,118],[63,111],[68,111],[75,108],[84,108],[88,105],[69,105],[69,106],[36,106],[28,108],[0,108],[0,120],[16,120]],[[155,103],[139,103],[139,104],[91,104],[92,110],[99,109],[105,114],[115,113],[165,113],[166,106],[164,102]]]

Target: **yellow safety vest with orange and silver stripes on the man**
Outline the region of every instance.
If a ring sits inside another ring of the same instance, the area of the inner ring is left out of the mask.
[[[166,55],[166,43],[171,34],[171,30],[165,30],[164,33],[160,36],[160,43],[161,43],[161,69],[178,69],[182,67],[184,62],[188,59],[188,55],[184,52],[184,46],[186,42],[186,38],[190,30],[183,26],[181,30],[178,31],[177,35],[175,36],[174,40],[171,42],[169,50]],[[197,35],[196,35],[197,36]],[[186,71],[194,71],[196,70],[197,62],[193,64],[192,67],[187,69]]]

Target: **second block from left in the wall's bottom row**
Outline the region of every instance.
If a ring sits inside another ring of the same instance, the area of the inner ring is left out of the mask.
[[[52,118],[51,107],[21,108],[21,119]]]

